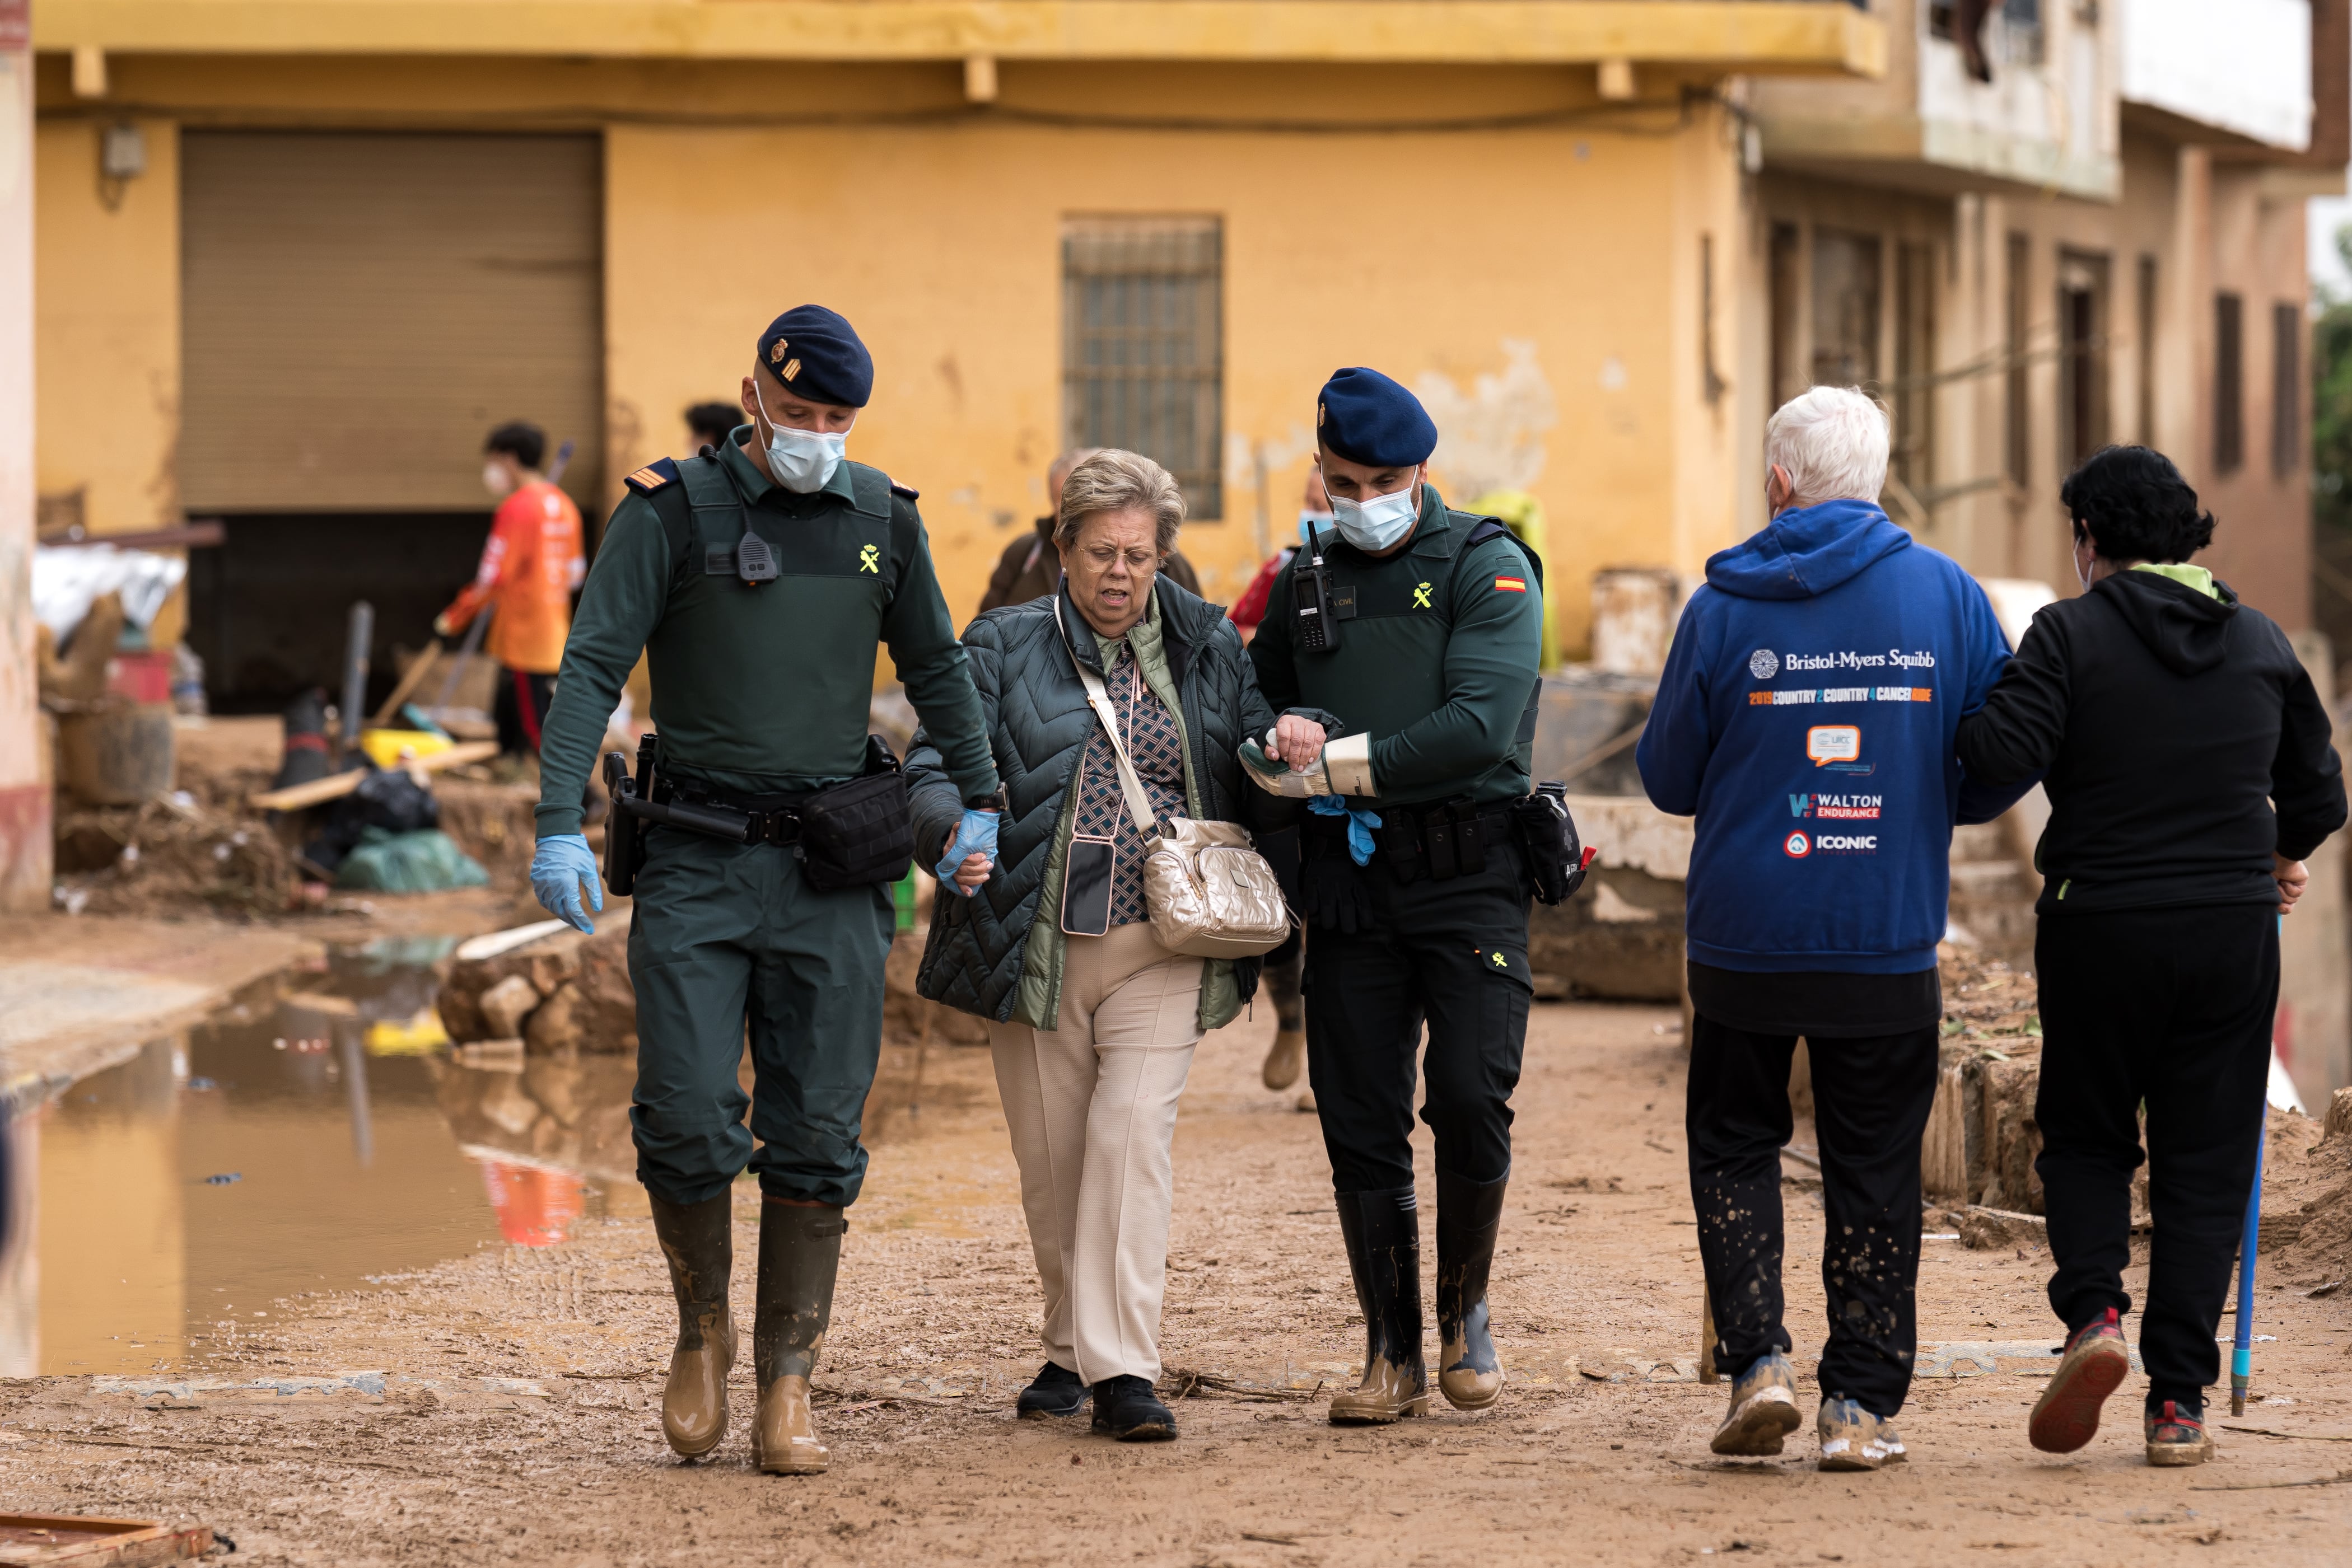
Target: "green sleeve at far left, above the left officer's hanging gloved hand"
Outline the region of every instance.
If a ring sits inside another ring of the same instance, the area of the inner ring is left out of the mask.
[[[630,494],[614,508],[564,639],[555,701],[539,726],[539,837],[581,830],[588,771],[621,686],[670,599],[670,538],[654,503]]]

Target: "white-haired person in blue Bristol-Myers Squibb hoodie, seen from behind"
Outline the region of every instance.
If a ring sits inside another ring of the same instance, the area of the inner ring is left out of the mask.
[[[1771,524],[1715,555],[1675,628],[1635,759],[1696,816],[1689,879],[1691,1201],[1733,1380],[1715,1453],[1797,1429],[1780,1324],[1780,1147],[1813,1065],[1828,1241],[1820,1467],[1903,1458],[1917,1342],[1919,1135],[1936,1100],[1952,825],[2030,788],[1952,752],[2009,663],[1985,590],[1879,510],[1886,414],[1818,386],[1764,430]]]

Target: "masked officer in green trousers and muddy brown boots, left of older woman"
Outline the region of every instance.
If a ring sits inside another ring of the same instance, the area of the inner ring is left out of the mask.
[[[753,1462],[776,1474],[826,1467],[809,1373],[833,1309],[842,1211],[866,1175],[858,1121],[894,931],[887,886],[821,891],[807,879],[797,806],[868,766],[877,642],[971,806],[955,858],[995,851],[997,773],[915,491],[842,456],[870,390],[873,360],[833,310],[800,306],[769,324],[743,378],[750,428],[710,456],[628,477],[541,741],[532,886],[581,929],[581,884],[597,907],[602,893],[579,802],[640,649],[661,724],[654,799],[731,806],[755,823],[760,842],[644,832],[628,931],[630,1126],[677,1293],[663,1434],[687,1458],[727,1436],[729,1190],[746,1164],[760,1175]],[[746,1025],[748,1128],[736,1081]]]

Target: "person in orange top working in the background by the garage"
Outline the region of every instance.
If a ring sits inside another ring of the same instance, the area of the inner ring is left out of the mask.
[[[440,637],[456,637],[489,609],[489,656],[499,661],[499,750],[536,752],[539,719],[555,696],[555,670],[572,635],[572,595],[588,576],[581,510],[541,470],[548,437],[513,421],[482,444],[482,484],[501,496],[482,545],[482,569],[433,618]]]

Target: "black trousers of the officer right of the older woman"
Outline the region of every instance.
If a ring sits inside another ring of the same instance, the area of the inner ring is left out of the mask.
[[[1324,846],[1329,849],[1329,846]],[[1334,867],[1345,875],[1345,867]],[[1301,990],[1308,1084],[1331,1157],[1334,1192],[1414,1185],[1414,1056],[1421,1119],[1437,1168],[1472,1182],[1510,1175],[1510,1091],[1526,1046],[1526,882],[1517,844],[1491,844],[1486,870],[1397,882],[1385,853],[1355,872],[1369,919],[1315,926]]]

